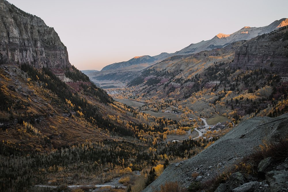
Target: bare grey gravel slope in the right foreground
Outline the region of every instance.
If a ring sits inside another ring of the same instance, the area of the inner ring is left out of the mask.
[[[276,118],[255,117],[243,121],[195,157],[168,166],[143,192],[153,191],[169,181],[178,181],[181,186],[188,187],[193,172],[199,173],[196,180],[207,180],[251,154],[255,147],[262,144],[263,139],[274,141],[287,136],[287,123],[288,113]]]

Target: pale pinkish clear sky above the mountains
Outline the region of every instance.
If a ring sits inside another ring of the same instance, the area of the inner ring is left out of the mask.
[[[134,56],[176,52],[191,43],[288,17],[287,0],[9,0],[54,27],[79,70]]]

